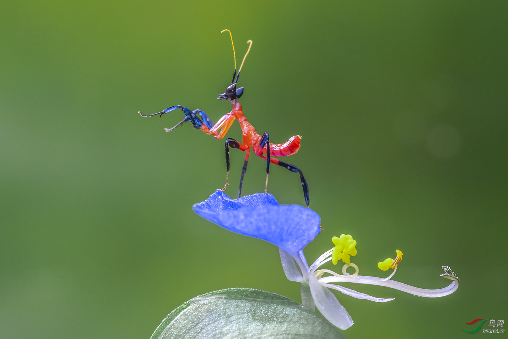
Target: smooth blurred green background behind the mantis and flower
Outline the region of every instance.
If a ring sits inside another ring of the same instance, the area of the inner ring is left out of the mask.
[[[224,185],[216,121],[237,58],[243,111],[305,174],[324,231],[313,261],[350,233],[361,274],[404,252],[395,280],[427,299],[347,286],[348,338],[467,337],[506,319],[508,4],[504,1],[134,2],[0,5],[0,336],[148,338],[182,302],[250,287],[300,301],[278,250],[198,217]],[[228,136],[240,138],[235,122]],[[232,151],[230,196],[243,153]],[[244,194],[263,192],[251,157]],[[298,175],[274,167],[269,192],[304,204]],[[332,268],[332,265],[328,268]],[[339,269],[335,267],[335,269]],[[486,325],[484,327],[487,327]]]

